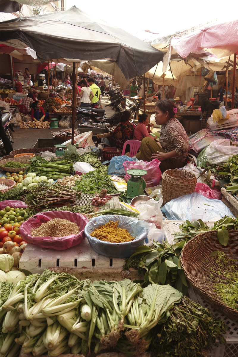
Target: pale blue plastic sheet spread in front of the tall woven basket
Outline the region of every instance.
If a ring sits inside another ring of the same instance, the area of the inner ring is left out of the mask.
[[[203,221],[218,221],[224,216],[233,216],[233,213],[221,200],[207,198],[197,192],[193,192],[191,195],[173,198],[173,200],[163,206],[161,211],[166,214],[168,220],[191,221],[192,207],[204,208],[205,214],[202,218]]]

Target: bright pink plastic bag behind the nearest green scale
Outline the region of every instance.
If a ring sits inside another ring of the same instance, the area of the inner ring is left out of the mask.
[[[159,169],[159,164],[161,161],[158,159],[154,159],[150,162],[148,161],[125,161],[123,162],[123,166],[125,171],[130,170],[130,169],[139,169],[139,170],[146,170],[147,174],[145,176],[142,176],[144,180],[146,181],[147,187],[153,187],[157,186],[159,184],[159,181],[161,179],[161,171]],[[124,177],[126,181],[131,178],[131,175],[126,174]]]

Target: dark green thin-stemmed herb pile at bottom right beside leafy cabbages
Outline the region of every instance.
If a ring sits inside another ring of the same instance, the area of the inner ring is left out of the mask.
[[[217,338],[226,343],[226,324],[187,297],[174,304],[169,315],[153,334],[153,351],[158,357],[204,357],[204,351],[217,346]]]

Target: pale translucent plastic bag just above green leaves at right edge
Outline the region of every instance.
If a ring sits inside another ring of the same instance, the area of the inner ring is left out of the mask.
[[[210,164],[221,165],[227,162],[231,155],[238,154],[238,147],[231,146],[229,139],[218,139],[211,142],[207,149],[207,159]]]

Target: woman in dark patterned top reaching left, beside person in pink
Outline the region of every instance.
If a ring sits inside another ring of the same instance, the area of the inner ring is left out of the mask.
[[[124,143],[127,140],[132,140],[133,138],[133,129],[135,125],[129,121],[130,116],[131,113],[128,110],[125,110],[122,113],[120,124],[117,125],[116,129],[106,134],[97,134],[96,137],[97,138],[108,137],[108,140],[110,140],[109,137],[112,136],[116,144],[116,147],[123,149]]]

